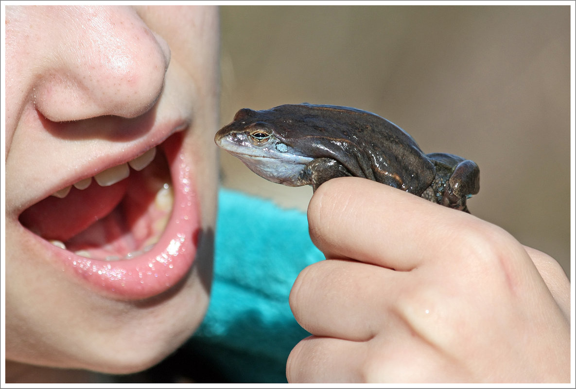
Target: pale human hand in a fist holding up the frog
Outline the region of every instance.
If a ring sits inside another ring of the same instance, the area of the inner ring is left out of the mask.
[[[321,185],[290,306],[289,382],[569,382],[570,283],[548,255],[369,180]]]

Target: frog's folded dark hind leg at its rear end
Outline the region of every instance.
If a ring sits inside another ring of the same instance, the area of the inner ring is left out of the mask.
[[[479,190],[480,169],[478,165],[473,161],[462,161],[458,163],[448,180],[441,204],[470,213],[466,200]]]

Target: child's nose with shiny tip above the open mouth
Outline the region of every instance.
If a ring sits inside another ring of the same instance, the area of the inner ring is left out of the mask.
[[[170,61],[166,42],[129,7],[52,7],[64,29],[52,37],[32,91],[52,121],[136,117],[160,96]]]

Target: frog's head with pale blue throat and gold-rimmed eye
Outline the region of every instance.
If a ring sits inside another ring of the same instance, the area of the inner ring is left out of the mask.
[[[274,125],[270,111],[239,110],[232,123],[221,128],[214,141],[260,177],[295,186],[312,158],[299,155]]]

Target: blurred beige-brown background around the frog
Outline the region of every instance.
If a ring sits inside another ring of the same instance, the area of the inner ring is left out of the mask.
[[[568,6],[222,6],[221,124],[310,102],[393,121],[480,166],[473,215],[570,272]],[[221,152],[228,188],[306,209]]]

